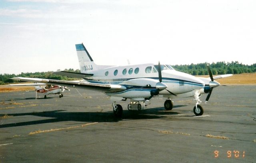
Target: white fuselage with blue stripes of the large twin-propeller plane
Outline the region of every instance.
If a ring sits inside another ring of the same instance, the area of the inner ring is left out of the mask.
[[[118,93],[106,92],[106,94],[109,96],[125,97],[127,96],[126,94],[129,94],[129,92],[134,94],[134,98],[145,96],[145,93],[148,93],[148,96],[150,96],[150,89],[155,89],[154,85],[159,82],[158,65],[151,63],[141,65],[112,66],[105,69],[100,69],[98,71],[93,71],[92,65],[88,65],[88,67],[90,67],[90,71],[94,75],[92,77],[85,78],[86,81],[100,84],[119,84],[128,88],[123,92]],[[204,88],[205,84],[202,80],[192,75],[175,71],[170,65],[161,65],[161,69],[162,83],[166,84],[167,89],[160,91],[159,94],[168,97],[174,96],[174,94],[178,95]],[[150,86],[148,86],[148,90],[145,90],[147,85]],[[144,88],[142,88],[143,86]],[[172,94],[170,92],[172,92]],[[131,97],[130,94],[129,97]]]

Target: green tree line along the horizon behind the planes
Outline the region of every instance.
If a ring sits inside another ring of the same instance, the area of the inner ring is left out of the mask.
[[[238,61],[232,61],[226,63],[224,61],[217,63],[198,63],[190,65],[174,65],[172,66],[175,70],[188,73],[191,75],[208,75],[207,65],[210,65],[210,69],[213,75],[220,74],[241,74],[241,73],[256,73],[256,63],[253,65],[243,65]],[[64,71],[80,73],[80,70],[65,69]],[[56,80],[74,80],[74,78],[68,78],[60,75],[53,74],[53,71],[48,72],[36,72],[36,73],[21,73],[15,74],[0,74],[0,84],[13,83],[10,78],[13,77],[29,77],[29,78],[43,78],[43,79],[56,79]]]

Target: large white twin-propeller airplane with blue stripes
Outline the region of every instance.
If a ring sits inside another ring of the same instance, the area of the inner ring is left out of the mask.
[[[46,84],[60,84],[77,88],[91,89],[103,92],[113,101],[114,116],[122,116],[122,106],[117,101],[130,100],[128,110],[146,109],[147,102],[154,96],[166,97],[164,108],[172,110],[172,98],[194,96],[196,105],[194,114],[201,116],[204,113],[199,96],[208,93],[209,100],[212,89],[220,83],[214,81],[230,75],[213,77],[208,68],[210,78],[199,78],[174,70],[170,65],[152,63],[125,66],[96,65],[83,44],[76,44],[76,51],[81,73],[66,71],[55,72],[68,77],[83,78],[83,82],[60,81],[52,79],[14,77],[14,80],[40,82]]]

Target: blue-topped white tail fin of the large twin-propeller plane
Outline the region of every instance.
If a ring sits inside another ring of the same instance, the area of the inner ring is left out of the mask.
[[[98,65],[94,63],[83,43],[76,44],[76,53],[81,73],[91,73],[98,70]]]

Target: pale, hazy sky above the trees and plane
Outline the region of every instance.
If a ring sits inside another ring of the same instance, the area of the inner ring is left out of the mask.
[[[255,0],[0,0],[0,74],[98,65],[256,63]]]

